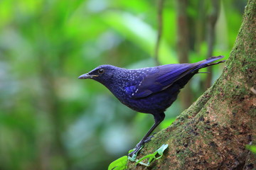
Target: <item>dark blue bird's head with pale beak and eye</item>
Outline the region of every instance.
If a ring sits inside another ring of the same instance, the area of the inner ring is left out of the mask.
[[[112,77],[119,69],[121,68],[112,65],[100,65],[99,67],[92,69],[92,71],[82,74],[78,79],[94,79],[95,81],[99,81],[106,85],[107,82],[112,80]]]

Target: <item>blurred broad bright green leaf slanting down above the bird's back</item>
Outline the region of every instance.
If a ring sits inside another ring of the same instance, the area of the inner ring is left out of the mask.
[[[128,40],[136,43],[149,55],[154,53],[156,43],[156,30],[153,30],[151,26],[129,13],[117,13],[108,12],[102,16],[102,19],[110,27],[117,30],[123,36],[126,36]],[[161,63],[177,63],[174,52],[170,51],[169,45],[165,40],[162,40],[159,50]]]

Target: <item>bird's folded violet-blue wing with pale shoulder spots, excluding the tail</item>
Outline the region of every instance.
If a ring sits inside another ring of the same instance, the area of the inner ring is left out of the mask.
[[[162,91],[193,71],[198,64],[167,64],[154,67],[129,88],[131,98],[143,98]]]

